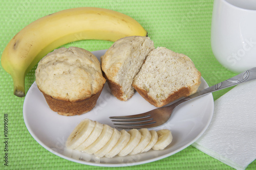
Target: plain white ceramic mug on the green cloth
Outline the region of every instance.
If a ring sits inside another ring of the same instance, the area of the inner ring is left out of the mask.
[[[232,72],[256,67],[256,1],[215,0],[211,49]]]

